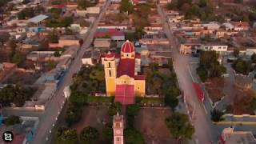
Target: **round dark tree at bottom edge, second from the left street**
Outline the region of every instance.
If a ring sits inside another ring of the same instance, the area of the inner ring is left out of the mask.
[[[91,127],[91,126],[87,126],[83,128],[80,134],[80,139],[84,144],[97,143],[98,137],[99,137],[98,130],[96,130],[94,127]]]

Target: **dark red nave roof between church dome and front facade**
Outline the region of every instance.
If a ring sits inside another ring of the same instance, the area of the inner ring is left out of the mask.
[[[118,77],[128,75],[134,78],[135,60],[130,58],[121,59],[118,64]]]

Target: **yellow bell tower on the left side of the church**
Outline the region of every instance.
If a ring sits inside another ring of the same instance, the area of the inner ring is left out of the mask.
[[[106,95],[114,96],[115,94],[115,79],[117,75],[117,66],[115,54],[108,52],[103,59],[105,79],[106,79]]]

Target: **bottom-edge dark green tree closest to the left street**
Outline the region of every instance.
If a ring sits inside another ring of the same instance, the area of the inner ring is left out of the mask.
[[[77,130],[67,129],[66,127],[60,127],[57,131],[57,144],[77,144],[78,134]]]

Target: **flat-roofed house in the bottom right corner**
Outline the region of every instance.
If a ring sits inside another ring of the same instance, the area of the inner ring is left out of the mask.
[[[251,131],[234,131],[234,128],[225,128],[219,137],[219,144],[256,143]]]

